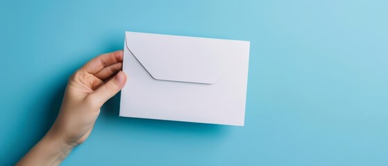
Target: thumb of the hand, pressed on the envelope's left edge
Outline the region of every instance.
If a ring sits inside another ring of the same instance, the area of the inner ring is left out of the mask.
[[[100,104],[99,106],[102,106],[103,103],[116,95],[124,87],[125,83],[126,74],[119,71],[115,77],[106,82],[106,84],[100,86],[99,89],[96,89],[93,93],[90,93],[87,98],[90,98],[94,103],[98,103]]]

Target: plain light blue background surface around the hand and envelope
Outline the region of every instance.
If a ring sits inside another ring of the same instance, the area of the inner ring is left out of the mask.
[[[63,165],[388,165],[388,1],[1,1],[0,165],[124,30],[251,41],[245,127],[119,117]]]

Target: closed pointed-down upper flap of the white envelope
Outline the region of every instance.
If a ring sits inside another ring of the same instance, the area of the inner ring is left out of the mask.
[[[213,84],[235,64],[246,42],[126,32],[131,53],[156,80]]]

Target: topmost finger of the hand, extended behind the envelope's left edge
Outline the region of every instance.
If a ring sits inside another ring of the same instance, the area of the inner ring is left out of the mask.
[[[104,67],[117,64],[119,62],[123,62],[123,50],[117,50],[112,53],[106,53],[99,55],[98,57],[94,57],[94,59],[87,62],[81,70],[90,74],[95,74],[101,71]]]

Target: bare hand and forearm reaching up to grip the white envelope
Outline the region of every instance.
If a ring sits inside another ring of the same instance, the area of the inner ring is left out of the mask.
[[[59,165],[92,132],[101,106],[126,83],[123,51],[99,55],[67,82],[60,112],[46,135],[16,165]]]

